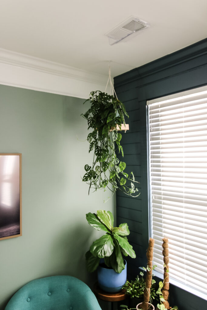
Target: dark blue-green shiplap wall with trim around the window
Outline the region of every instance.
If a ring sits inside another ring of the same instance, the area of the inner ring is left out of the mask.
[[[116,193],[117,224],[127,222],[136,259],[127,259],[128,277],[146,265],[149,240],[146,100],[207,84],[207,39],[114,78],[116,94],[126,107],[129,131],[122,135],[126,172],[140,182],[140,196]],[[119,156],[119,159],[121,157]],[[207,301],[171,285],[170,302],[179,310],[207,309]]]

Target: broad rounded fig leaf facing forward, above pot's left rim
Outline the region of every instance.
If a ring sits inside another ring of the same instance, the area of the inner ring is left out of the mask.
[[[93,256],[104,258],[110,256],[114,250],[114,242],[110,234],[106,233],[101,238],[97,239],[90,246],[90,251]]]

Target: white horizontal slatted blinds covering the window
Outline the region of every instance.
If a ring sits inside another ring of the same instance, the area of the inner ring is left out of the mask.
[[[147,104],[155,270],[207,294],[207,87]]]

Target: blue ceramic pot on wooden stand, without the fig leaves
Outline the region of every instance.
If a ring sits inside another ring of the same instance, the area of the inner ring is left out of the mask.
[[[98,266],[98,285],[106,292],[119,292],[127,281],[127,262],[124,260],[125,268],[121,273],[114,269],[104,268],[100,263]]]

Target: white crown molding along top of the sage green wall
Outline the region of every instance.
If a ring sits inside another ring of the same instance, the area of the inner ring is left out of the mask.
[[[0,83],[55,94],[88,98],[104,91],[107,76],[0,48]]]

